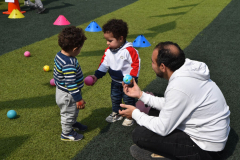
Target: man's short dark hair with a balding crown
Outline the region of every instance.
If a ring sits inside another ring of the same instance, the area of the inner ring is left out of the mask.
[[[168,46],[174,45],[178,48],[177,53],[173,53]],[[185,63],[185,54],[177,43],[170,41],[161,42],[156,45],[155,49],[158,49],[157,65],[160,66],[163,63],[171,71],[179,69]]]

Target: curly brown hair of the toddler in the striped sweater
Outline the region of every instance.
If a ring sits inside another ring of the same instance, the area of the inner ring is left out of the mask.
[[[58,35],[58,45],[66,52],[83,46],[87,38],[81,28],[65,27]]]

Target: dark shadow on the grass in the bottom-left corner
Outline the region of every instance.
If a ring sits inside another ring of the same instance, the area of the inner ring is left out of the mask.
[[[0,159],[6,159],[12,152],[27,141],[30,136],[15,136],[0,139]],[[19,157],[20,158],[20,157]],[[17,158],[18,159],[18,158]]]

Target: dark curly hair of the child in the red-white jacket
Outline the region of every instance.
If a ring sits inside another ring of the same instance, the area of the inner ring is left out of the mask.
[[[103,33],[112,32],[113,37],[119,39],[123,36],[126,40],[128,35],[127,23],[121,19],[110,19],[106,24],[103,25]]]

